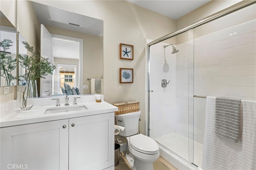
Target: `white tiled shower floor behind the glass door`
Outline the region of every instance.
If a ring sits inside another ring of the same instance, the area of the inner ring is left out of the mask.
[[[190,147],[190,150],[188,149],[188,145],[193,144],[193,140],[189,139],[186,136],[178,134],[176,132],[171,134],[164,134],[162,136],[154,138],[154,140],[164,145],[169,150],[172,150],[174,153],[185,158],[186,160],[188,160],[189,153],[193,151],[192,147]],[[196,164],[198,167],[202,167],[202,156],[203,156],[203,144],[194,141],[194,162],[193,163]]]

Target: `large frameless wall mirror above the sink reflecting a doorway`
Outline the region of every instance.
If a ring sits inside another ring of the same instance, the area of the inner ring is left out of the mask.
[[[38,97],[63,95],[66,85],[77,92],[68,95],[93,94],[91,79],[103,78],[102,20],[27,0],[17,1],[17,20],[19,36],[56,66],[37,79]]]

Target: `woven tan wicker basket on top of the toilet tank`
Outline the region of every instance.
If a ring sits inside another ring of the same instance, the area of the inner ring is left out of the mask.
[[[113,103],[113,105],[118,107],[118,111],[115,111],[116,115],[122,115],[124,113],[140,111],[140,102],[138,101],[126,101],[126,102],[120,102],[120,103]]]

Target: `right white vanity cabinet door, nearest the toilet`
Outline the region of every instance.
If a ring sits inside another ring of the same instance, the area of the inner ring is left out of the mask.
[[[70,170],[114,166],[114,113],[73,118],[69,126]]]

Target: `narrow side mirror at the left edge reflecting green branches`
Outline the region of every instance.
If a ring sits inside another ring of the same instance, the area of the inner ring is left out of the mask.
[[[0,86],[17,85],[16,28],[0,11]]]

